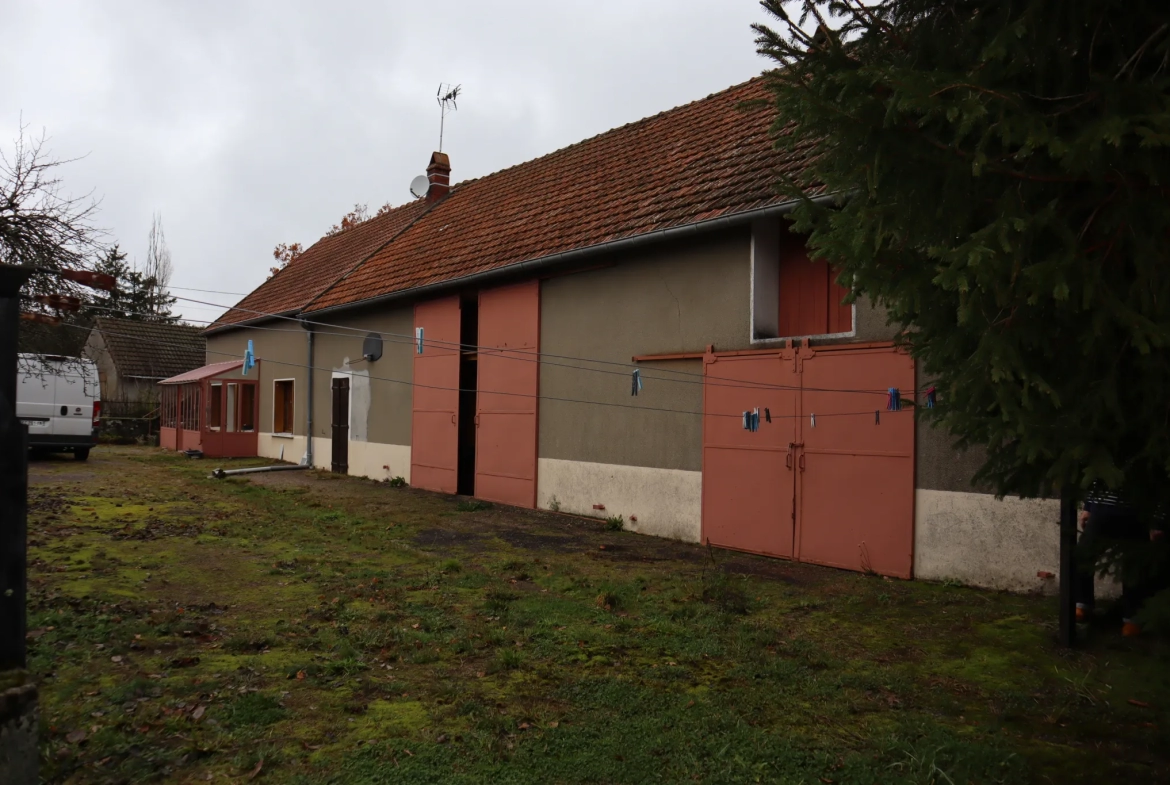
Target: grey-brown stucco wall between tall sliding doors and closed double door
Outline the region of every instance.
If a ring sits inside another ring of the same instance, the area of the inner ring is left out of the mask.
[[[634,354],[750,345],[750,248],[746,227],[687,243],[663,245],[613,264],[549,278],[541,285],[541,351],[598,358],[611,373],[541,366],[539,456],[697,470],[702,416],[701,360],[641,364],[645,387],[629,394]],[[579,365],[548,358],[551,363]],[[571,398],[635,408],[572,404]],[[639,411],[641,409],[641,411]]]

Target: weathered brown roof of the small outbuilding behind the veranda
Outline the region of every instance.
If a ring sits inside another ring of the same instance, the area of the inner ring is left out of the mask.
[[[122,378],[165,379],[199,367],[207,357],[202,329],[186,324],[98,317],[94,330]]]

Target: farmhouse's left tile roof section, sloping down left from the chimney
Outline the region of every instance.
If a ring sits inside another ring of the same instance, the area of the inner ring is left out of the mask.
[[[322,237],[207,329],[249,322],[260,318],[260,314],[300,311],[350,268],[410,226],[426,208],[422,200],[412,201],[340,234]]]

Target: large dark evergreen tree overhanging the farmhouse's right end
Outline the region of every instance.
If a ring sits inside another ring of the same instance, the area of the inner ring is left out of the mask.
[[[762,5],[777,144],[808,161],[780,187],[842,197],[804,199],[796,228],[904,328],[938,388],[929,413],[986,452],[978,481],[1163,501],[1164,1]]]

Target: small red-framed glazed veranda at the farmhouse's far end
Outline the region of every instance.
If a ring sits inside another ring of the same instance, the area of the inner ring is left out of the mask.
[[[206,457],[254,457],[260,391],[242,369],[243,360],[213,363],[160,381],[159,446]]]

